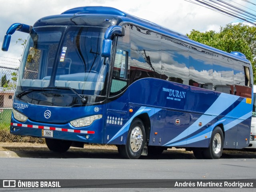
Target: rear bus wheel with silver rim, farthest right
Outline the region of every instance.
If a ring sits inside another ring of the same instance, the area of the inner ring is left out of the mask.
[[[212,136],[210,140],[210,145],[208,148],[204,149],[205,158],[217,159],[222,155],[224,145],[224,137],[222,129],[220,127],[215,127],[212,131]]]

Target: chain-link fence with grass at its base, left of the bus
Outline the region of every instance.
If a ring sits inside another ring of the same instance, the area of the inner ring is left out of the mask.
[[[12,103],[18,77],[17,65],[19,63],[18,59],[0,56],[0,142],[44,143],[42,138],[10,134]]]

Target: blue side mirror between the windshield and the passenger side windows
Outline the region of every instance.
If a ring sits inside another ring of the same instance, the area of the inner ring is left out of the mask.
[[[124,36],[124,28],[121,26],[110,26],[104,35],[104,40],[102,42],[102,57],[110,57],[111,54],[111,46],[112,46],[112,38],[114,35]]]

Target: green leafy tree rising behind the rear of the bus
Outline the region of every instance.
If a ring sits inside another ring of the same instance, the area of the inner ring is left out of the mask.
[[[256,84],[256,26],[227,24],[220,27],[220,32],[199,32],[192,30],[187,36],[196,42],[220,49],[230,53],[238,51],[243,53],[252,63],[254,84]]]

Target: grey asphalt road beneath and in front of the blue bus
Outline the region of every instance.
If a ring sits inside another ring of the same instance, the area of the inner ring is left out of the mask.
[[[157,158],[121,159],[116,148],[71,148],[63,154],[45,146],[1,146],[0,179],[256,179],[256,152],[224,151],[215,160],[195,159],[191,152],[164,151]],[[8,154],[6,157],[3,154]],[[16,158],[10,158],[16,157]],[[17,158],[21,157],[21,158]],[[0,191],[255,191],[234,188],[61,188]]]

